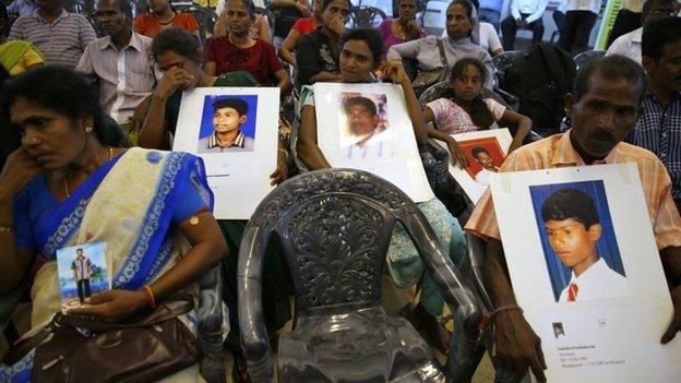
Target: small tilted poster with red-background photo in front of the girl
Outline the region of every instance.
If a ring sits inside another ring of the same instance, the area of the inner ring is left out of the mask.
[[[462,168],[450,161],[450,173],[473,204],[477,204],[489,187],[490,176],[499,171],[506,158],[513,137],[505,128],[458,133],[452,136],[468,159],[468,167]],[[449,152],[446,143],[442,141],[438,143]]]

